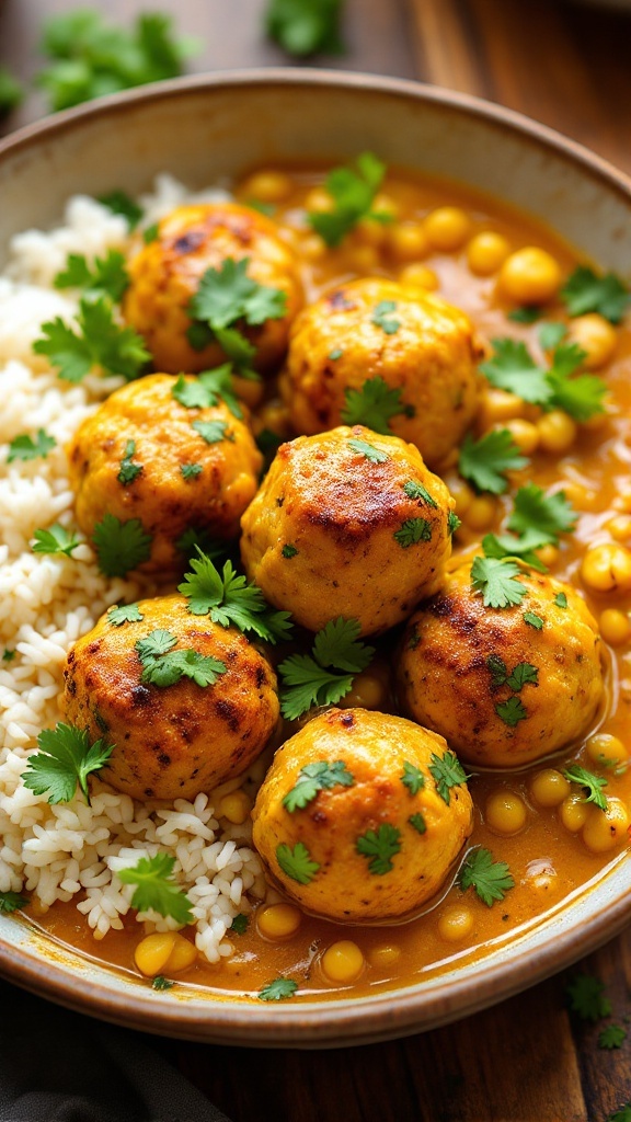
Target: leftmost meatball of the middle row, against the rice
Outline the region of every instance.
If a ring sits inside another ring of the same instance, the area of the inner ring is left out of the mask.
[[[247,424],[223,402],[189,408],[180,380],[155,374],[118,389],[68,447],[76,521],[91,536],[106,513],[139,518],[152,535],[146,573],[177,572],[190,528],[229,540],[256,493],[263,458]],[[179,389],[180,387],[180,389]],[[177,395],[177,396],[175,396]]]

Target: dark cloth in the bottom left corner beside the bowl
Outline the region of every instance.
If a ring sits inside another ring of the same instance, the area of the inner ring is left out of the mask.
[[[0,1122],[230,1122],[150,1037],[4,982],[0,1010]]]

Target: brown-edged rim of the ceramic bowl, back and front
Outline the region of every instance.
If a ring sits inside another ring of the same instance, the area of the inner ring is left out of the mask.
[[[515,110],[408,79],[337,70],[257,67],[216,71],[111,94],[45,117],[10,134],[0,140],[0,162],[37,148],[42,140],[72,131],[95,116],[116,119],[130,108],[146,103],[155,104],[216,89],[255,89],[260,85],[366,90],[405,101],[448,107],[507,129],[521,138],[525,136],[554,151],[557,158],[560,156],[568,163],[578,164],[592,178],[601,183],[604,181],[627,205],[631,203],[629,175],[582,144]],[[628,859],[623,858],[624,863]],[[603,880],[606,882],[606,876]],[[60,968],[53,956],[38,954],[33,945],[25,949],[2,939],[0,976],[79,1012],[165,1036],[254,1047],[362,1045],[449,1023],[510,997],[569,966],[619,935],[631,921],[631,893],[623,886],[615,891],[618,894],[614,893],[613,900],[605,901],[578,929],[561,925],[559,930],[557,925],[548,935],[543,930],[543,937],[538,939],[534,949],[529,950],[527,968],[523,967],[522,955],[507,959],[499,956],[491,962],[482,959],[476,966],[475,978],[469,971],[466,976],[454,981],[446,972],[437,984],[432,984],[429,996],[421,981],[359,999],[327,999],[323,1002],[305,999],[295,1005],[287,1003],[273,1008],[230,999],[182,1000],[175,1003],[170,995],[154,993],[149,988],[138,986],[132,993],[130,987],[108,987],[81,972]],[[543,920],[541,928],[545,927]],[[81,951],[76,955],[83,957]],[[518,968],[520,962],[521,968]]]

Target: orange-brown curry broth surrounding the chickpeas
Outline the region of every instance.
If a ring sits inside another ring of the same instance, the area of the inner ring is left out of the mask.
[[[290,168],[289,174],[292,176],[291,194],[277,206],[274,217],[299,255],[308,301],[317,298],[333,284],[356,276],[397,277],[401,261],[388,252],[387,237],[382,238],[381,234],[366,240],[357,230],[348,236],[341,248],[327,250],[323,255],[314,252],[313,237],[305,228],[304,203],[308,194],[322,184],[324,173],[319,168]],[[237,199],[241,202],[252,202],[249,182],[246,180],[237,186]],[[437,206],[458,206],[472,219],[474,232],[496,231],[509,240],[512,250],[528,245],[539,246],[557,259],[564,276],[578,264],[577,255],[542,223],[459,185],[433,180],[420,183],[403,174],[392,174],[387,176],[384,190],[395,203],[399,219],[404,221],[420,221]],[[510,334],[523,339],[537,361],[542,359],[538,324],[524,325],[506,320],[506,312],[512,305],[497,297],[495,276],[474,276],[467,266],[465,250],[450,254],[430,250],[422,261],[436,273],[439,295],[466,311],[484,340]],[[560,303],[546,306],[547,320],[559,319],[563,314]],[[577,585],[596,618],[611,607],[623,613],[631,610],[631,592],[589,591],[579,576],[585,546],[611,541],[607,523],[619,516],[621,509],[631,512],[631,331],[621,327],[618,334],[614,359],[598,370],[610,389],[611,412],[606,417],[580,425],[578,438],[567,454],[558,457],[534,451],[527,468],[511,473],[509,493],[495,499],[494,521],[482,532],[467,528],[464,523],[454,548],[458,558],[463,551],[479,542],[482,533],[496,532],[510,507],[511,494],[527,481],[532,480],[543,488],[552,485],[565,488],[579,518],[575,533],[563,539],[558,555],[550,564],[550,573]],[[274,393],[273,388],[271,393]],[[522,413],[527,417],[537,415],[539,411],[532,406],[527,406]],[[441,473],[448,485],[457,478],[454,467]],[[627,506],[625,496],[629,498]],[[614,500],[618,500],[618,506],[613,505]],[[631,703],[631,642],[627,640],[610,647],[607,657],[606,712],[600,715],[597,730],[627,743]],[[394,686],[391,683],[393,691]],[[290,727],[286,735],[291,732]],[[595,728],[591,729],[593,732]],[[473,891],[465,894],[452,885],[439,902],[431,902],[429,910],[409,922],[387,927],[346,927],[303,916],[298,934],[284,941],[269,941],[257,932],[255,911],[244,935],[230,935],[235,946],[230,959],[212,966],[198,958],[192,967],[177,975],[176,981],[241,994],[256,992],[272,978],[284,975],[299,982],[296,999],[310,992],[317,992],[321,997],[335,996],[340,987],[324,976],[319,955],[339,939],[354,940],[366,959],[362,977],[351,986],[342,987],[345,992],[351,990],[357,994],[448,971],[456,958],[483,957],[493,940],[505,939],[521,925],[537,922],[547,910],[559,905],[582,884],[597,876],[610,862],[620,858],[622,845],[594,854],[578,833],[570,833],[563,825],[557,809],[545,809],[533,801],[530,791],[532,776],[542,767],[563,767],[570,762],[578,762],[587,769],[594,766],[584,745],[575,745],[556,754],[554,760],[539,761],[519,772],[475,773],[475,769],[466,769],[474,773],[469,789],[475,803],[475,828],[467,848],[484,846],[492,852],[494,859],[509,864],[515,885],[503,901],[488,908]],[[610,767],[606,778],[607,795],[616,795],[629,806],[631,770]],[[497,834],[485,822],[486,801],[497,790],[515,792],[525,803],[525,825],[513,836]],[[473,927],[465,937],[447,940],[440,934],[440,920],[465,901],[473,916]],[[72,902],[56,903],[36,922],[54,938],[88,955],[103,957],[137,976],[134,950],[140,936],[132,919],[126,922],[125,930],[109,931],[102,942],[94,941]]]

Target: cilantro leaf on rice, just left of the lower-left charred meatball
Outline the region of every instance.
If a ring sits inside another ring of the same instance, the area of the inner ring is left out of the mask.
[[[37,737],[39,752],[29,756],[22,772],[24,784],[35,794],[48,794],[48,802],[70,802],[76,784],[90,804],[88,776],[100,771],[113,752],[103,739],[90,743],[86,729],[58,724]]]

